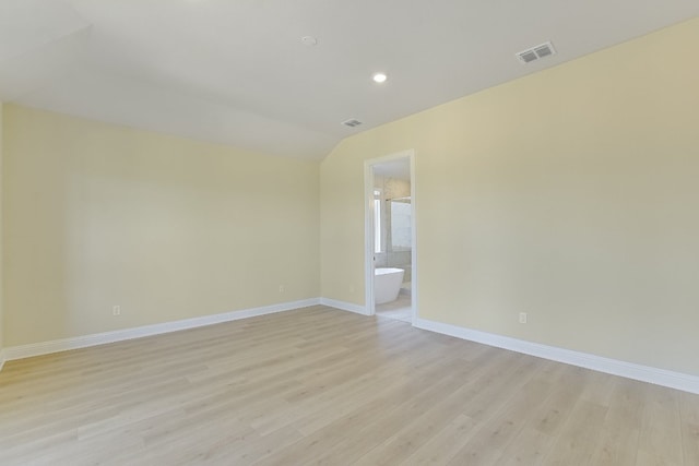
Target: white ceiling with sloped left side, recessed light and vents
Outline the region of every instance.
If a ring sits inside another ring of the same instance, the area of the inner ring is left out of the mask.
[[[697,0],[0,0],[0,99],[320,159],[350,134],[697,15]],[[558,55],[514,58],[546,40]]]

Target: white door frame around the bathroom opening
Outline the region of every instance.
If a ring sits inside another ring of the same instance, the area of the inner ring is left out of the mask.
[[[407,158],[411,165],[411,307],[412,322],[417,319],[417,229],[415,222],[415,151],[407,150],[379,158],[371,158],[364,163],[364,280],[365,280],[365,312],[376,314],[374,302],[374,166],[399,158]]]

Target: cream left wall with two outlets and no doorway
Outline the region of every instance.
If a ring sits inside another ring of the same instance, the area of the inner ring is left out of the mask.
[[[319,296],[317,162],[13,105],[3,128],[5,346]]]

